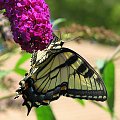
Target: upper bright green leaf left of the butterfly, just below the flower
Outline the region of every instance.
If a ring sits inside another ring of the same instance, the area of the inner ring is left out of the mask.
[[[21,58],[18,60],[18,62],[16,63],[15,68],[19,68],[19,66],[20,66],[21,64],[23,64],[24,62],[26,62],[28,59],[30,59],[30,57],[31,57],[31,54],[29,54],[29,53],[24,53],[24,54],[21,56]]]

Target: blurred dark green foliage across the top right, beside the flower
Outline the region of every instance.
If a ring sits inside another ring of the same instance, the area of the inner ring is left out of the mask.
[[[120,0],[46,0],[51,18],[66,18],[88,26],[105,26],[120,33]]]

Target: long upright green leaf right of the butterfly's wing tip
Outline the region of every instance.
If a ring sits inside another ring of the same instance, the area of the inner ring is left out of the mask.
[[[107,104],[110,109],[111,115],[114,115],[114,92],[115,92],[115,66],[113,61],[105,64],[103,70],[103,79],[108,92]]]

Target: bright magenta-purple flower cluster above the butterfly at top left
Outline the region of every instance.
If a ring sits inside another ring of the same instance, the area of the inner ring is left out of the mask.
[[[15,42],[23,50],[43,50],[53,39],[48,5],[44,0],[0,0],[5,9]]]

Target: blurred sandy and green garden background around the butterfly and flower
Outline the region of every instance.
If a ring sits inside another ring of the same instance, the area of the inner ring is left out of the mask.
[[[120,120],[120,1],[46,0],[55,33],[83,56],[102,76],[108,91],[105,102],[61,97],[47,107],[27,110],[14,100],[19,81],[30,69],[29,53],[14,41],[9,21],[0,12],[1,120]],[[69,42],[70,41],[70,42]]]

